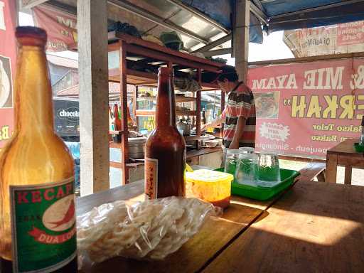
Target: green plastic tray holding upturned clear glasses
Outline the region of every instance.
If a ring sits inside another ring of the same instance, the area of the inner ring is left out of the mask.
[[[218,168],[215,171],[224,171],[224,168]],[[239,183],[231,183],[231,194],[233,196],[244,196],[255,200],[268,200],[278,193],[281,193],[286,188],[294,183],[294,178],[299,176],[298,171],[287,170],[281,168],[281,180],[282,182],[272,188],[262,188],[249,185],[242,185]]]

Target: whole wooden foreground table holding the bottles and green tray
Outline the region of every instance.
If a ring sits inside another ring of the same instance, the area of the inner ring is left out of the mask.
[[[77,200],[95,205],[140,198],[142,181]],[[82,272],[364,272],[364,188],[299,181],[267,202],[232,198],[162,262],[117,257]]]

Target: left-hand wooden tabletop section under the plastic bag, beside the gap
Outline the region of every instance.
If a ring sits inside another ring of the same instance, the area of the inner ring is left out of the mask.
[[[77,215],[91,210],[102,203],[114,200],[143,200],[144,181],[137,181],[126,186],[117,187],[92,196],[77,200]],[[255,202],[245,198],[233,197],[229,208],[221,218],[210,219],[191,240],[186,242],[176,253],[169,255],[163,262],[140,262],[117,257],[91,266],[85,264],[82,272],[112,272],[118,268],[120,272],[198,272],[208,261],[215,257],[230,241],[240,235],[248,225],[274,202]],[[252,203],[252,205],[250,205]],[[212,236],[213,235],[213,236]]]

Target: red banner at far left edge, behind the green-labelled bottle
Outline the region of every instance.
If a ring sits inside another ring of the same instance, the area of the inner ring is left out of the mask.
[[[0,148],[13,131],[16,1],[0,0]]]

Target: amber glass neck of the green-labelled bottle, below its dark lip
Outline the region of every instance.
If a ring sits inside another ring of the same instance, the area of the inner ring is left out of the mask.
[[[53,132],[52,90],[44,48],[28,45],[20,48],[16,71],[16,130]]]

